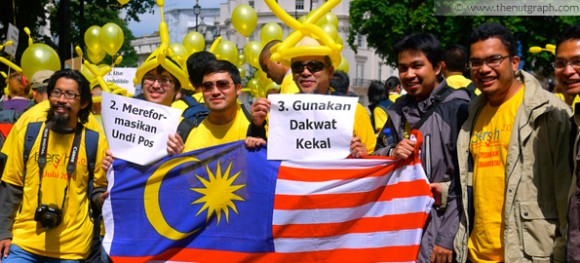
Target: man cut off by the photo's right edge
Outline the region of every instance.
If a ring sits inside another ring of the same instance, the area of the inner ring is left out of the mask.
[[[580,25],[574,25],[562,32],[556,39],[556,61],[552,63],[556,79],[564,88],[564,92],[571,97],[580,94]],[[571,137],[574,138],[572,161],[576,162],[573,186],[574,192],[570,200],[568,213],[568,262],[580,262],[580,181],[578,167],[580,161],[580,104],[574,104]]]

